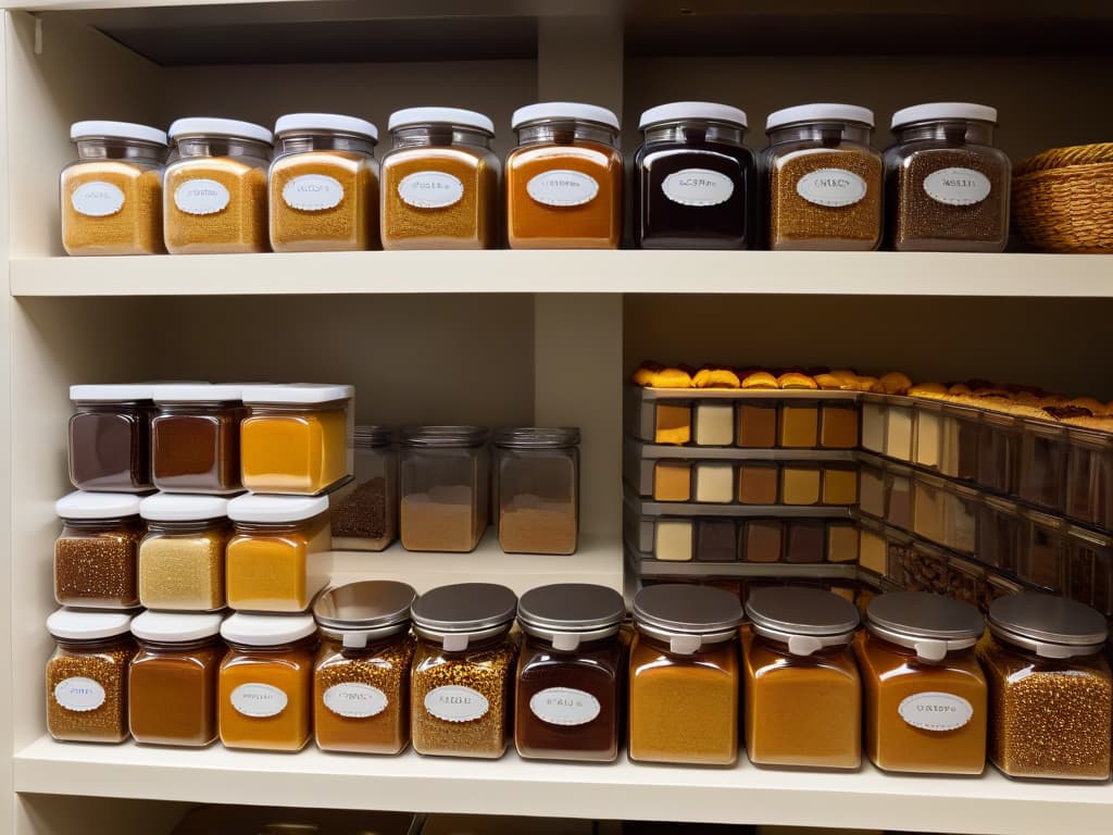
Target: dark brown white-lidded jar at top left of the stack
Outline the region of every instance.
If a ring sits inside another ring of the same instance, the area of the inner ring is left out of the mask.
[[[70,481],[78,490],[151,490],[149,385],[71,385]]]

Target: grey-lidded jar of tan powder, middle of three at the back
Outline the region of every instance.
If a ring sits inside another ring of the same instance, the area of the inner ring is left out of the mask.
[[[482,426],[402,431],[398,528],[407,551],[475,549],[487,527],[491,453]]]

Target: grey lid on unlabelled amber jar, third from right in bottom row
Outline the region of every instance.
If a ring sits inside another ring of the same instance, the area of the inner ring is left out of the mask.
[[[849,644],[861,622],[849,600],[824,589],[794,586],[754,589],[746,613],[755,632],[787,644],[797,656]]]

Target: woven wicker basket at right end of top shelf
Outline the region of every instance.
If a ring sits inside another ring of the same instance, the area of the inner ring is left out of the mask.
[[[1017,165],[1013,224],[1036,249],[1113,253],[1113,143],[1052,148]]]

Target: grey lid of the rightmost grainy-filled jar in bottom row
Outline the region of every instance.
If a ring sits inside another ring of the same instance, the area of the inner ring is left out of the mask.
[[[989,630],[1044,658],[1073,658],[1102,649],[1109,629],[1085,603],[1038,591],[999,597],[989,605]]]

